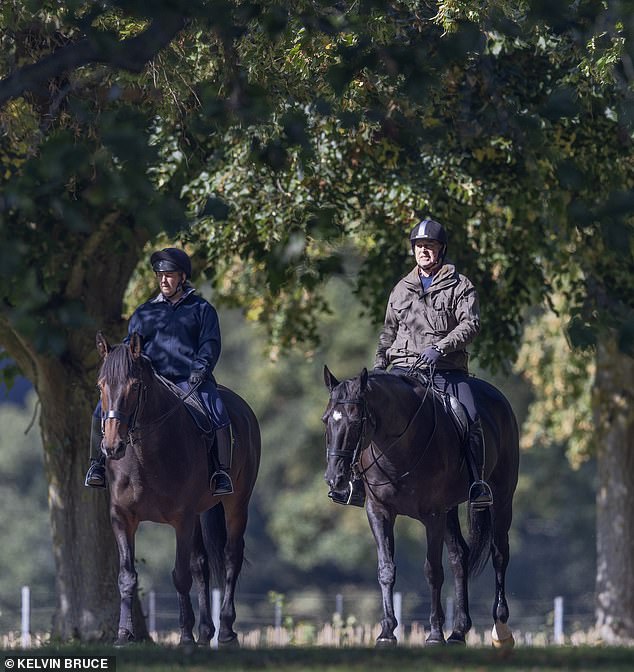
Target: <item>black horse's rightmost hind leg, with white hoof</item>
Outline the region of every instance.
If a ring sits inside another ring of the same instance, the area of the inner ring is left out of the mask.
[[[492,642],[495,647],[512,647],[513,633],[507,625],[509,607],[506,601],[505,580],[509,563],[509,528],[511,526],[511,504],[499,506],[494,512],[493,545],[491,558],[495,571],[495,601],[493,602]]]

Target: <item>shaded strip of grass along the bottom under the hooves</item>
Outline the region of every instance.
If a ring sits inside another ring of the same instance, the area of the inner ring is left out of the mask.
[[[117,672],[632,672],[634,648],[541,647],[497,651],[488,648],[280,648],[194,649],[156,645],[45,646],[7,656],[115,656]]]

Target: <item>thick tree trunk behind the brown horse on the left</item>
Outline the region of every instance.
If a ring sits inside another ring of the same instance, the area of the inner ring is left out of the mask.
[[[57,576],[53,635],[112,641],[119,620],[119,560],[108,491],[84,486],[96,373],[78,375],[73,366],[44,360],[37,378]],[[138,604],[135,614],[143,638],[147,630]]]

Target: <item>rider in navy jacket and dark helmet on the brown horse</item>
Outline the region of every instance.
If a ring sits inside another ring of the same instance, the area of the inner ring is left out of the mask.
[[[192,266],[186,252],[168,247],[154,252],[150,264],[156,273],[159,294],[134,311],[128,325],[128,339],[135,332],[140,334],[144,354],[151,360],[154,370],[186,394],[195,390],[199,396],[216,433],[217,451],[212,456],[216,468],[209,487],[217,495],[231,494],[230,420],[213,378],[221,347],[218,314],[189,284]],[[101,436],[99,403],[93,413],[91,463],[85,481],[92,488],[106,485]]]

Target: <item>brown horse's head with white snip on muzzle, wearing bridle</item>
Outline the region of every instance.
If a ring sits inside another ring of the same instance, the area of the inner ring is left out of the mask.
[[[111,347],[105,336],[97,334],[97,351],[102,358],[99,372],[103,440],[101,450],[112,460],[125,454],[128,434],[139,411],[143,382],[143,344],[133,334],[130,344]]]

